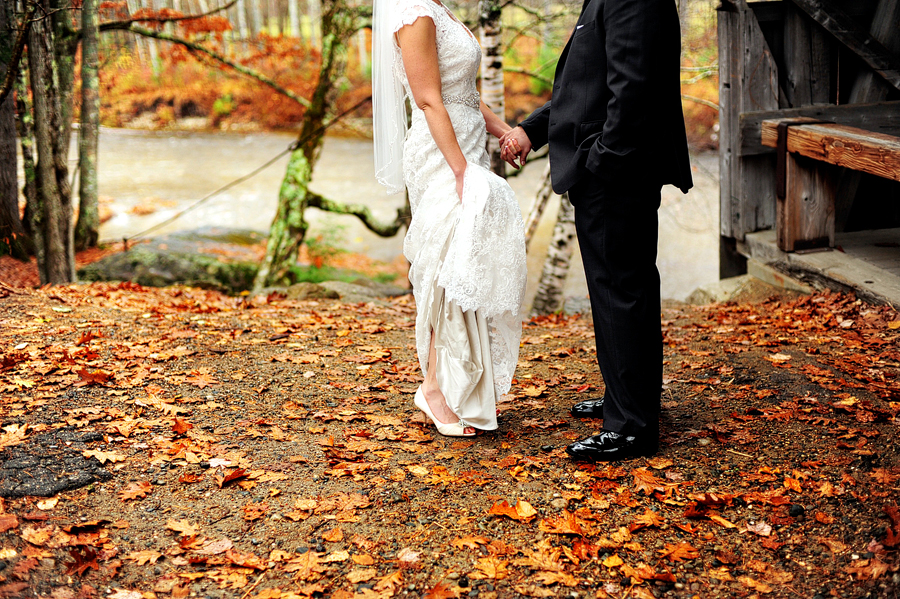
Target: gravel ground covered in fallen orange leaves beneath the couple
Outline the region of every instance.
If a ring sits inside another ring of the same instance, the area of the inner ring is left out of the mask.
[[[453,440],[409,297],[0,296],[2,597],[900,593],[888,308],[666,305],[661,451],[594,466],[563,452],[601,426],[568,414],[602,393],[583,318],[528,322],[500,430]]]

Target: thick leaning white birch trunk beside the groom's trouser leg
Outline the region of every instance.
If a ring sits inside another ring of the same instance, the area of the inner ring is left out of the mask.
[[[569,195],[559,199],[559,214],[553,228],[553,238],[547,248],[547,260],[541,272],[541,280],[534,296],[531,311],[534,314],[549,314],[563,307],[563,288],[569,274],[569,263],[575,248],[575,209]]]

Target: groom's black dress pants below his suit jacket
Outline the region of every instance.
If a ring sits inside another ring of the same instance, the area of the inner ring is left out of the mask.
[[[659,434],[662,328],[658,184],[586,174],[569,190],[606,385],[603,428]]]

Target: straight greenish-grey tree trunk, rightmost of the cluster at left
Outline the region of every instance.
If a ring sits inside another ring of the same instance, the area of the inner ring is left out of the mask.
[[[97,142],[100,135],[100,74],[98,58],[99,4],[81,5],[81,129],[78,143],[78,224],[75,248],[97,247],[100,212],[97,190]]]

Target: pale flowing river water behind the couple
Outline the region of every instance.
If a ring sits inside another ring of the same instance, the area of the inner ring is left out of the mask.
[[[264,164],[292,141],[281,133],[172,133],[102,129],[99,179],[101,202],[113,213],[100,236],[120,240],[177,214],[198,199]],[[695,188],[688,195],[665,187],[659,212],[659,269],[664,298],[684,299],[699,285],[718,278],[718,163],[714,154],[694,156]],[[543,161],[526,165],[510,179],[523,212],[531,205]],[[275,214],[284,156],[260,174],[204,202],[154,234],[205,225],[266,232]],[[379,219],[393,220],[402,196],[388,196],[375,181],[372,144],[361,139],[326,138],[312,189],[341,202],[363,203]],[[540,277],[553,231],[551,201],[529,248],[528,297]],[[402,237],[384,239],[355,217],[310,209],[310,235],[333,245],[390,261],[401,253]],[[566,296],[584,298],[581,260],[572,261]]]

